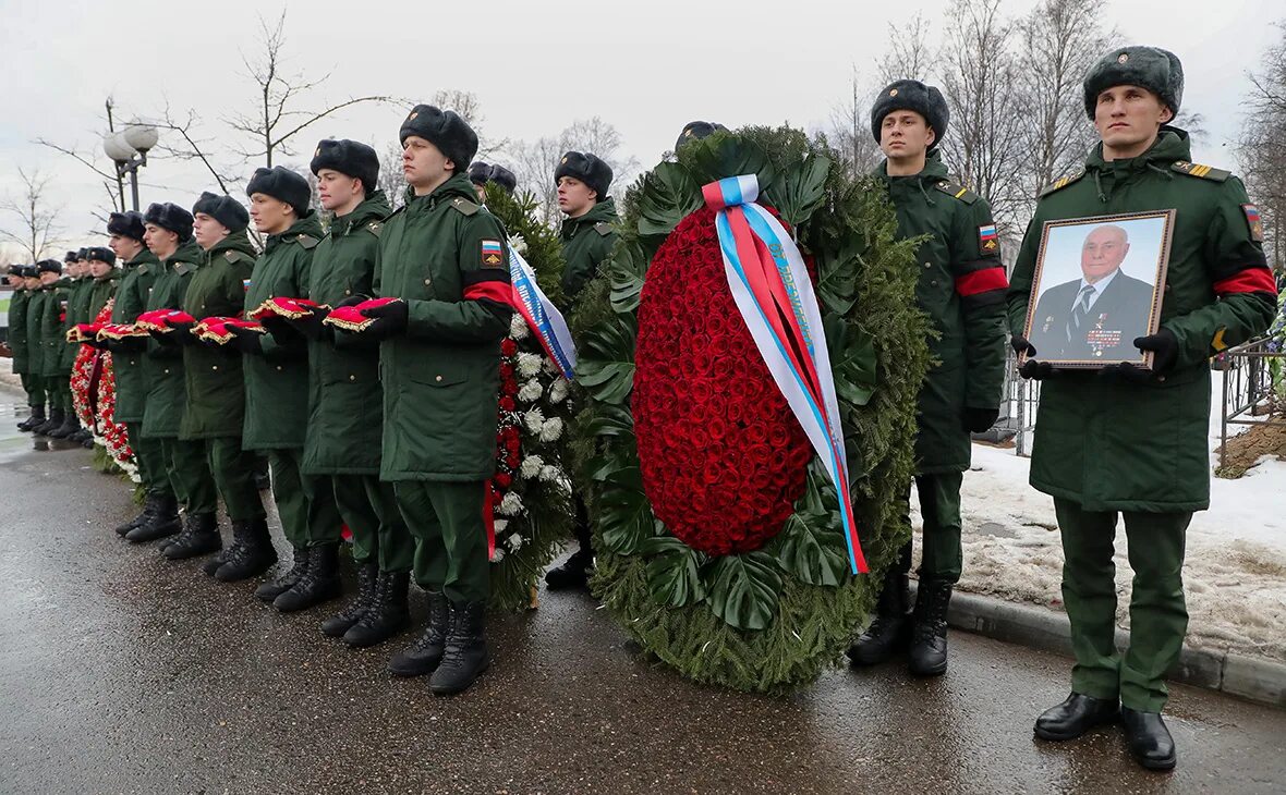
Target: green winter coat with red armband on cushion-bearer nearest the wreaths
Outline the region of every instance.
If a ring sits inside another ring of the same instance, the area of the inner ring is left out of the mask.
[[[376,293],[409,304],[406,333],[379,347],[383,480],[486,480],[495,471],[509,250],[504,226],[476,199],[464,175],[424,197],[408,189],[379,239]]]

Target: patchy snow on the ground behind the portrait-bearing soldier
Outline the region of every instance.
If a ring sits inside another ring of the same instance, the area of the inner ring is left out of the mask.
[[[1211,467],[1219,446],[1214,379]],[[1028,459],[974,446],[964,474],[964,573],[959,590],[1062,609],[1062,547],[1053,498],[1028,483]],[[1188,643],[1286,661],[1286,461],[1262,460],[1236,480],[1211,480],[1210,510],[1193,515],[1183,566]],[[914,510],[914,498],[912,500]],[[919,527],[918,515],[913,523]],[[917,538],[917,555],[919,533]],[[1116,532],[1118,623],[1129,625],[1125,528]]]

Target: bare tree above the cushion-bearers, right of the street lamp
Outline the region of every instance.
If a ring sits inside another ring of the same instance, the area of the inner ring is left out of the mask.
[[[264,164],[273,167],[274,155],[293,155],[292,140],[310,126],[327,118],[345,108],[351,108],[361,103],[392,103],[392,96],[372,94],[368,96],[350,96],[345,100],[332,103],[322,110],[305,110],[298,108],[300,100],[314,89],[322,86],[331,73],[316,80],[305,80],[300,73],[288,73],[283,58],[285,48],[285,10],[276,19],[274,27],[261,17],[260,45],[262,53],[258,58],[242,58],[242,63],[249,71],[249,77],[255,81],[255,110],[252,113],[235,113],[224,121],[233,130],[244,134],[252,144],[237,149],[247,162],[264,158]]]

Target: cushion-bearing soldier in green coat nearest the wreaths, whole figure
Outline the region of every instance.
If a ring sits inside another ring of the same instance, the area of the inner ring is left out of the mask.
[[[417,105],[403,122],[406,204],[385,223],[364,310],[382,339],[383,459],[415,538],[415,582],[428,628],[396,655],[397,676],[432,672],[430,690],[466,690],[490,665],[484,505],[495,473],[500,340],[512,311],[504,227],[464,171],[477,135],[458,114]]]

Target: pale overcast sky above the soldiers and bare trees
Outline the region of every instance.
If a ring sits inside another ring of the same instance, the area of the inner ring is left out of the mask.
[[[1019,15],[1033,4],[1008,0],[1006,9]],[[649,167],[691,119],[730,127],[824,123],[847,91],[851,66],[864,74],[874,71],[890,22],[923,10],[936,39],[945,6],[944,0],[878,6],[817,0],[314,0],[288,4],[285,57],[289,69],[310,78],[333,71],[310,104],[364,94],[419,100],[440,89],[462,89],[480,98],[489,137],[532,140],[599,116],[620,130],[625,153]],[[1187,76],[1184,109],[1202,113],[1209,132],[1193,159],[1236,168],[1229,140],[1241,122],[1245,72],[1258,68],[1281,35],[1272,22],[1286,13],[1264,0],[1174,0],[1164,13],[1148,6],[1155,5],[1110,0],[1106,23],[1130,42],[1179,55]],[[230,140],[219,119],[253,103],[242,53],[255,51],[256,17],[275,21],[280,9],[279,3],[244,0],[0,0],[0,195],[17,195],[18,167],[53,175],[64,245],[94,241],[91,213],[107,205],[100,181],[35,139],[94,150],[105,163],[99,139],[103,100],[112,95],[118,117],[156,116],[168,101],[176,112],[195,108],[204,135]],[[396,141],[405,112],[368,105],[325,119],[305,134],[300,152],[310,154],[322,137]],[[211,148],[225,149],[217,143]],[[301,167],[306,162],[285,159]],[[193,164],[162,158],[150,161],[143,181],[144,205],[190,205],[212,186]],[[14,222],[0,216],[0,227]]]

